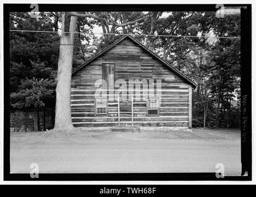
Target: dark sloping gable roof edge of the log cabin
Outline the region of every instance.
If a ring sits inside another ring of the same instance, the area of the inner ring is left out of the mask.
[[[151,55],[151,57],[155,58],[155,60],[158,60],[158,62],[162,63],[164,66],[166,66],[167,68],[169,68],[169,70],[173,71],[175,74],[177,74],[177,76],[179,76],[180,78],[184,79],[184,81],[186,81],[188,84],[190,84],[193,88],[197,87],[197,83],[192,81],[191,79],[189,79],[185,74],[182,74],[181,71],[177,70],[177,68],[174,68],[173,66],[171,66],[166,60],[163,60],[161,57],[159,57],[157,54],[155,54],[154,52],[152,52],[150,49],[148,49],[147,47],[143,46],[142,43],[140,43],[139,41],[137,41],[137,39],[133,38],[130,35],[127,36],[122,36],[121,38],[117,39],[116,41],[114,41],[112,44],[110,44],[108,47],[106,47],[105,49],[101,50],[100,53],[98,53],[97,55],[95,55],[94,57],[90,58],[87,62],[83,63],[82,65],[78,66],[77,68],[75,68],[72,71],[72,74],[77,73],[77,71],[81,70],[84,66],[87,66],[88,64],[90,64],[91,62],[93,62],[94,60],[96,60],[96,58],[100,57],[101,55],[105,54],[106,52],[108,52],[110,49],[113,49],[114,46],[116,46],[117,44],[119,44],[120,42],[122,42],[124,39],[129,39],[130,41],[134,42],[135,44],[137,44],[141,49],[143,49],[145,52],[147,52],[147,54]]]

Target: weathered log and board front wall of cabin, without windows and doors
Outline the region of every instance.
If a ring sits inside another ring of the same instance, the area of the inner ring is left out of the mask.
[[[146,101],[134,101],[134,126],[189,126],[189,84],[129,39],[73,74],[71,115],[75,127],[117,126],[117,100],[109,100],[108,116],[95,117],[95,81],[102,79],[102,66],[115,64],[115,80],[161,79],[159,116],[147,116]],[[128,87],[128,84],[127,84]],[[118,89],[118,87],[115,87]],[[127,98],[129,97],[127,91]],[[141,91],[141,95],[142,95]],[[121,101],[122,102],[122,101]],[[131,124],[131,110],[120,111],[122,124]]]

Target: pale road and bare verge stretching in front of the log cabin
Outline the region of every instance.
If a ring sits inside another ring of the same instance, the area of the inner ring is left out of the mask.
[[[215,172],[241,175],[239,132],[90,132],[78,137],[11,135],[11,172]],[[127,137],[129,136],[129,137]],[[152,137],[153,136],[153,137]],[[188,137],[189,136],[189,137]]]

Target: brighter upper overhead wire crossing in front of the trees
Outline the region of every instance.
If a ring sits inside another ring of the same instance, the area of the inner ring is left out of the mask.
[[[59,32],[59,31],[37,31],[37,30],[10,30],[11,32],[32,32],[32,33],[70,33],[70,32]],[[125,34],[125,33],[85,33],[85,32],[74,32],[74,34],[102,34],[102,35],[115,35],[115,36],[155,36],[155,37],[184,37],[184,38],[226,38],[226,39],[241,39],[241,37],[230,37],[230,36],[189,36],[189,35],[155,35],[155,34]]]

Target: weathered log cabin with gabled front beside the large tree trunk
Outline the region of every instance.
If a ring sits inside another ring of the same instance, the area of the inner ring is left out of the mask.
[[[132,36],[72,71],[75,127],[192,127],[197,84]]]

